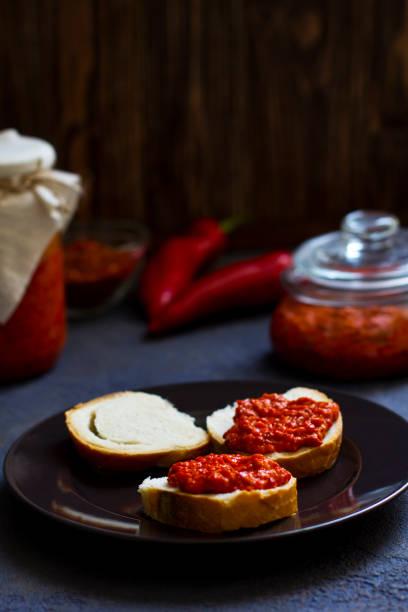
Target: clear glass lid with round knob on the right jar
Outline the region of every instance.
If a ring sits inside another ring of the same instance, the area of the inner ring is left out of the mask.
[[[293,254],[285,287],[297,299],[329,306],[408,299],[408,230],[394,215],[356,210],[340,231],[307,240]]]

